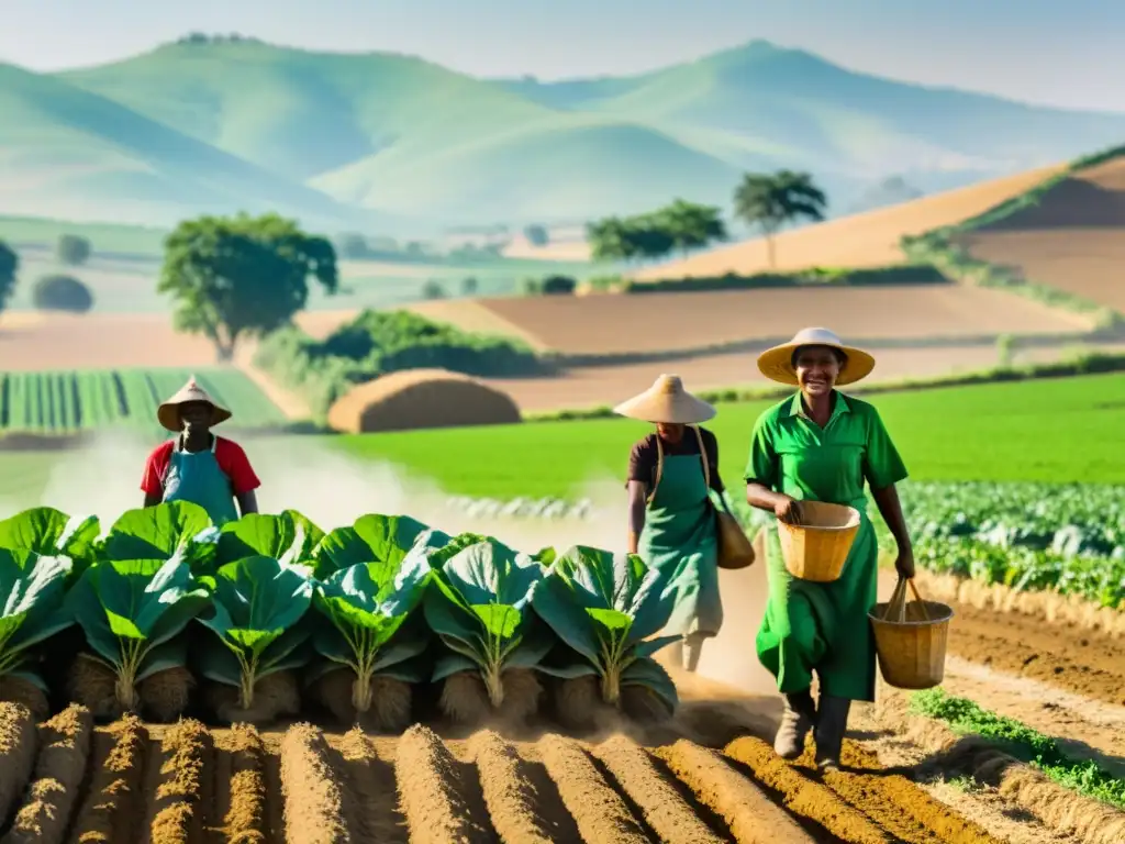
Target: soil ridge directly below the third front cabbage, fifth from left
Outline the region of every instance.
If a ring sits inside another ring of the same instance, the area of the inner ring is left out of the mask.
[[[262,739],[249,724],[236,724],[223,737],[222,749],[230,771],[228,775],[216,778],[217,787],[227,783],[225,793],[216,801],[216,815],[223,819],[218,832],[230,844],[262,844],[267,841]]]

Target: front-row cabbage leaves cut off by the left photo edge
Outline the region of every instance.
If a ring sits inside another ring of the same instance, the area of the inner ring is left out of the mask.
[[[0,677],[19,676],[46,691],[27,670],[28,648],[74,623],[64,604],[70,557],[0,548]]]

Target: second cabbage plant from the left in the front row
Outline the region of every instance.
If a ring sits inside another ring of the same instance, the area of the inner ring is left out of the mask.
[[[210,595],[181,559],[100,560],[66,596],[94,655],[116,675],[116,697],[137,708],[136,684],[182,667],[187,639],[179,634]]]

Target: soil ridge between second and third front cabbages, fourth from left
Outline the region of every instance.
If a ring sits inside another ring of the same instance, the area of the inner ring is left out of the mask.
[[[153,844],[196,844],[204,833],[204,778],[213,756],[210,734],[197,720],[181,720],[164,733],[161,751],[150,839]]]

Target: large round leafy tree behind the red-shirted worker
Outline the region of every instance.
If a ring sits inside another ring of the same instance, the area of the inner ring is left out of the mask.
[[[230,360],[243,335],[289,324],[308,300],[308,277],[328,294],[339,285],[336,253],[276,214],[199,217],[164,241],[159,293],[176,302],[177,329],[209,338]]]

